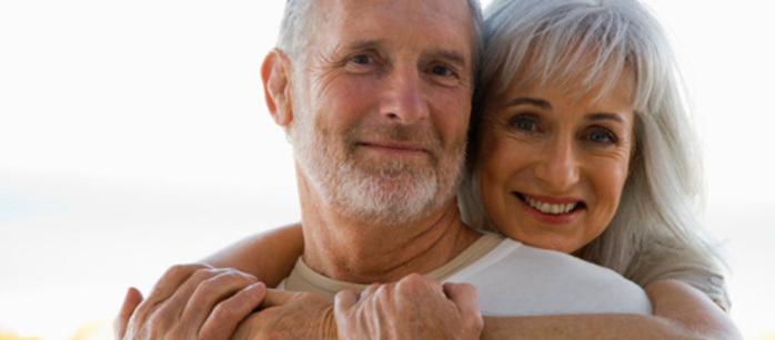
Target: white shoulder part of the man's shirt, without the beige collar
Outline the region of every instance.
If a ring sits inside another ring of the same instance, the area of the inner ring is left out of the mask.
[[[652,313],[645,291],[617,272],[507,238],[446,281],[476,287],[485,316]]]

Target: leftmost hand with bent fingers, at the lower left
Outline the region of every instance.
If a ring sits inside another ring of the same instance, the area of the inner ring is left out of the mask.
[[[129,290],[115,339],[229,339],[265,293],[255,277],[234,269],[173,266],[144,301]]]

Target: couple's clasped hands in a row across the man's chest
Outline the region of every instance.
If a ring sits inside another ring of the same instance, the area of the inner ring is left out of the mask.
[[[198,264],[170,268],[145,300],[131,288],[114,322],[115,339],[479,339],[482,328],[470,285],[410,275],[334,305]]]

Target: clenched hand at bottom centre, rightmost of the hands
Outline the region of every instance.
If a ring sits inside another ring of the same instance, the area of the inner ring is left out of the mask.
[[[334,316],[340,339],[479,339],[484,327],[473,286],[416,274],[339,292]]]

